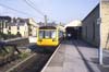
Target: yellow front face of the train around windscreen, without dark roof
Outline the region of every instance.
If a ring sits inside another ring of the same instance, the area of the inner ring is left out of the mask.
[[[43,35],[40,35],[40,32],[45,32],[45,33],[56,32],[56,34],[55,34],[56,36],[52,38],[44,33],[43,33]],[[46,37],[46,36],[48,36],[48,37]],[[58,28],[57,29],[38,29],[37,31],[37,45],[38,46],[58,46],[59,45],[58,38],[59,38],[58,37]]]

